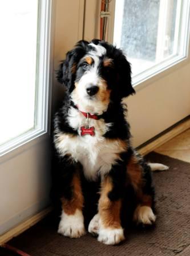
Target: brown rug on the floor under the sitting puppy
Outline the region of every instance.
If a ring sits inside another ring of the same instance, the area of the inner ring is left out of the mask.
[[[153,173],[156,186],[156,226],[133,227],[118,246],[103,245],[90,234],[79,239],[56,233],[58,223],[47,217],[9,244],[33,256],[189,256],[190,255],[190,163],[157,153],[147,155],[170,169]]]

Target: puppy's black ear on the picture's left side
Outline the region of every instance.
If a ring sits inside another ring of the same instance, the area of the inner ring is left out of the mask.
[[[59,65],[56,71],[56,79],[62,83],[71,92],[74,89],[74,82],[76,78],[76,68],[80,59],[86,54],[87,41],[79,41],[76,43],[75,48],[68,51],[66,59]]]

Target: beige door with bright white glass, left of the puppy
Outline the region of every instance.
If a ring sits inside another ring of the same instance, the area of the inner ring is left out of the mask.
[[[51,10],[0,2],[0,234],[50,201]]]

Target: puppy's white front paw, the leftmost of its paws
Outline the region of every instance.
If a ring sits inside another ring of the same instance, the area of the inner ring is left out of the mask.
[[[76,210],[75,214],[62,213],[58,233],[65,237],[78,238],[86,233],[82,211]]]

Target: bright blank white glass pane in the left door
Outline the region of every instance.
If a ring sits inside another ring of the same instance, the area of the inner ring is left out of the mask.
[[[38,0],[0,2],[0,145],[34,129]]]

